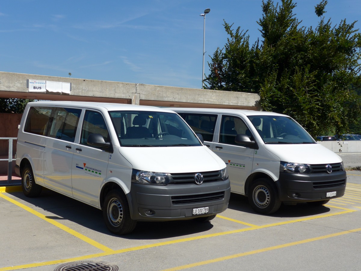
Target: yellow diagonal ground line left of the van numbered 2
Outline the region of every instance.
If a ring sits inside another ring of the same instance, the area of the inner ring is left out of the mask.
[[[7,201],[9,201],[11,203],[14,203],[15,205],[23,208],[24,210],[30,212],[31,214],[38,216],[39,218],[41,218],[41,219],[55,225],[56,227],[62,229],[63,231],[70,233],[71,235],[83,240],[84,242],[87,242],[88,244],[90,244],[92,246],[95,246],[96,248],[98,248],[100,250],[103,250],[103,251],[106,251],[106,252],[113,251],[112,249],[110,249],[110,248],[108,248],[108,247],[106,247],[106,246],[104,246],[104,245],[90,239],[89,237],[86,237],[86,236],[82,235],[81,233],[78,233],[78,232],[74,231],[73,229],[70,229],[70,228],[66,227],[65,225],[63,225],[61,223],[59,223],[59,222],[57,222],[57,221],[55,221],[53,219],[47,218],[45,215],[39,213],[38,211],[35,211],[35,210],[31,209],[30,207],[27,207],[26,205],[23,205],[22,203],[17,202],[14,199],[9,198],[8,196],[6,196],[4,194],[0,194],[0,197],[6,199]]]

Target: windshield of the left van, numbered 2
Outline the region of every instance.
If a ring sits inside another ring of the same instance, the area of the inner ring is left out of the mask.
[[[154,111],[110,111],[121,146],[201,146],[199,139],[177,114]]]

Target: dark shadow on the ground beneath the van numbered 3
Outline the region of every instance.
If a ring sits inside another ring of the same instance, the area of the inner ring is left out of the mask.
[[[229,200],[229,209],[241,211],[241,212],[247,212],[249,214],[257,214],[251,206],[248,203],[248,198],[231,193],[231,197]],[[284,205],[281,204],[279,210],[273,214],[267,215],[271,217],[279,217],[279,218],[301,218],[304,216],[312,216],[312,215],[321,215],[325,214],[327,212],[330,212],[330,208],[326,206],[312,206],[308,203],[297,203],[297,205]]]

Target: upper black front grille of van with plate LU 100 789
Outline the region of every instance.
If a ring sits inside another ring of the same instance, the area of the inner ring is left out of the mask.
[[[198,172],[190,173],[168,173],[170,184],[194,184],[194,176]],[[199,172],[203,175],[203,183],[222,181],[222,173],[220,170]]]

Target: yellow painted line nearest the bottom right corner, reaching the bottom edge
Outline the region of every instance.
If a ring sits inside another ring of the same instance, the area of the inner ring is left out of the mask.
[[[256,249],[256,250],[247,251],[247,252],[243,252],[243,253],[237,253],[237,254],[233,254],[233,255],[229,255],[229,256],[225,256],[225,257],[219,257],[219,258],[216,258],[216,259],[210,259],[210,260],[207,260],[207,261],[191,263],[191,264],[185,264],[183,266],[177,266],[177,267],[169,268],[169,269],[165,269],[165,270],[166,271],[174,271],[174,270],[182,270],[182,269],[196,267],[196,266],[202,266],[202,265],[205,265],[205,264],[226,261],[226,260],[229,260],[229,259],[234,259],[234,258],[239,258],[239,257],[243,257],[243,256],[253,255],[253,254],[262,253],[262,252],[265,252],[265,251],[281,249],[281,248],[287,248],[287,247],[290,247],[290,246],[295,246],[295,245],[300,245],[300,244],[306,244],[306,243],[309,243],[309,242],[314,242],[314,241],[323,240],[323,239],[327,239],[327,238],[331,238],[331,237],[341,236],[341,235],[344,235],[344,234],[348,234],[348,233],[351,233],[351,232],[358,232],[358,231],[361,231],[361,228],[352,229],[350,231],[332,233],[332,234],[323,235],[323,236],[314,237],[314,238],[309,238],[309,239],[300,240],[300,241],[296,241],[296,242],[291,242],[291,243],[287,243],[287,244],[283,244],[283,245],[269,246],[268,248]]]

